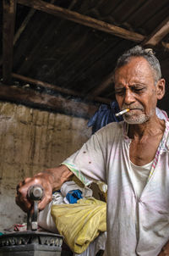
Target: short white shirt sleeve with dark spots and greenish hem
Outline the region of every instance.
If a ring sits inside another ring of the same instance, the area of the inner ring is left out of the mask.
[[[92,181],[106,183],[104,144],[102,133],[95,133],[79,151],[63,161],[62,164],[65,164],[85,186],[90,185]]]

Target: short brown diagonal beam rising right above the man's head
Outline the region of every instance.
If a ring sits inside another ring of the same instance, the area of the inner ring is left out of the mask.
[[[161,42],[162,38],[164,38],[167,34],[169,34],[169,16],[162,21],[161,25],[157,26],[155,31],[153,31],[150,36],[145,38],[142,44],[155,46]]]

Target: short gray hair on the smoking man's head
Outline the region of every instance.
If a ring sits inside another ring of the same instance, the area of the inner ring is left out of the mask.
[[[143,57],[149,62],[150,67],[154,73],[155,84],[161,79],[161,65],[159,63],[159,60],[155,57],[155,53],[153,53],[153,50],[151,48],[144,49],[139,45],[129,49],[128,51],[123,53],[120,58],[117,59],[117,65],[114,73],[123,65],[128,64],[130,59],[133,57]]]

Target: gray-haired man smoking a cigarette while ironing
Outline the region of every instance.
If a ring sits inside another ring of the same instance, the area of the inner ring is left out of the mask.
[[[32,184],[45,188],[44,209],[52,190],[73,174],[86,186],[104,181],[106,254],[169,255],[169,123],[155,114],[165,93],[160,64],[152,51],[134,47],[118,59],[114,82],[119,108],[129,109],[124,121],[97,131],[61,166],[20,182],[16,203],[31,208],[26,195]]]

